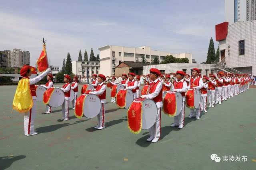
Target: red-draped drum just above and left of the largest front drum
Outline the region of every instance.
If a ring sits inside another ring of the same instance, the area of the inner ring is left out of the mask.
[[[116,95],[116,105],[121,109],[128,109],[133,100],[133,93],[129,89],[120,89]]]

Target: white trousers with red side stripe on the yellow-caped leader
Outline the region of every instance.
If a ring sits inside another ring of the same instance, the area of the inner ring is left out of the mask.
[[[36,118],[36,100],[33,100],[33,107],[24,115],[24,134],[34,133],[34,121]]]

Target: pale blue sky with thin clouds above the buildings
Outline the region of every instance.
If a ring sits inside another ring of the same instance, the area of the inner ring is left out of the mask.
[[[0,51],[30,51],[35,65],[46,40],[54,66],[79,49],[94,55],[104,45],[192,53],[205,62],[215,25],[225,21],[224,0],[8,0],[0,6]]]

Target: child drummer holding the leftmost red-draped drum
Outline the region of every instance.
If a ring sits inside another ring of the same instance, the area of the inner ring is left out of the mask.
[[[61,105],[61,109],[62,109],[62,121],[68,121],[69,120],[69,107],[68,107],[68,99],[70,97],[70,80],[71,77],[70,75],[64,75],[64,84],[61,88],[61,90],[64,92],[65,95],[65,100],[63,102],[63,104]]]

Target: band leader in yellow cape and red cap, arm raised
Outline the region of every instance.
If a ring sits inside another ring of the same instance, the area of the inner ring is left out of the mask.
[[[29,77],[32,74],[30,66],[24,65],[20,69],[20,79],[18,87],[16,89],[12,107],[14,110],[24,114],[24,134],[25,136],[32,136],[38,134],[34,131],[34,120],[36,118],[36,86],[34,85],[38,81],[42,80],[44,76],[50,72],[48,68],[42,74],[36,76],[33,79]]]

